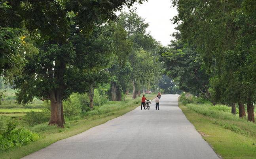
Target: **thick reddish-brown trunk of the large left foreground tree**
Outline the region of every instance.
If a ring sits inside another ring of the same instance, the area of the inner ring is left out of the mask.
[[[64,128],[64,115],[62,100],[51,100],[51,118],[49,125],[57,125],[58,127]]]

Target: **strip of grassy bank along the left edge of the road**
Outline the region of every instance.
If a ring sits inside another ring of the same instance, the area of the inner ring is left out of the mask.
[[[147,95],[153,98],[155,95]],[[29,127],[33,132],[39,133],[42,137],[36,142],[17,148],[13,148],[8,152],[0,153],[1,159],[17,159],[24,157],[30,153],[36,152],[50,144],[71,137],[94,126],[104,124],[108,120],[124,115],[125,113],[135,109],[140,104],[140,98],[136,100],[126,100],[123,102],[108,102],[106,105],[95,107],[89,111],[82,120],[66,120],[65,128],[57,128],[56,126],[47,126],[47,123]]]

